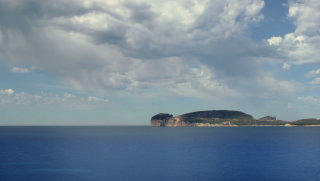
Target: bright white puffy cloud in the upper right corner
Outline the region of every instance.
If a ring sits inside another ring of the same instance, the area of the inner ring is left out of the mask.
[[[268,39],[279,56],[295,64],[320,62],[319,8],[320,1],[317,0],[289,1],[288,17],[296,26],[294,32]]]

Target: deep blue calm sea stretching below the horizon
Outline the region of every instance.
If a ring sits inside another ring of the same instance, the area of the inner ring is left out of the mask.
[[[320,180],[320,127],[0,127],[0,180]]]

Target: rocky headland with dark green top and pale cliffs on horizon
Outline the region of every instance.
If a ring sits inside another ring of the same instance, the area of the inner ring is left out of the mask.
[[[255,119],[253,116],[229,110],[198,111],[173,116],[159,113],[151,118],[151,126],[196,126],[196,127],[219,127],[219,126],[320,126],[319,119],[301,119],[297,121],[277,120],[273,116],[265,116]]]

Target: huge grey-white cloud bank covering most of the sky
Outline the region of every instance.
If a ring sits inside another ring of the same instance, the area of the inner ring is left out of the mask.
[[[248,27],[263,20],[264,5],[262,0],[2,0],[0,59],[106,95],[223,102],[299,91],[298,83],[277,80],[262,61],[273,57],[285,38],[273,37],[271,47],[246,36]]]

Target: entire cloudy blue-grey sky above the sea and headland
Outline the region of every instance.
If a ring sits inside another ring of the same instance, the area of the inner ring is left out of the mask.
[[[0,0],[0,125],[320,118],[318,0]]]

